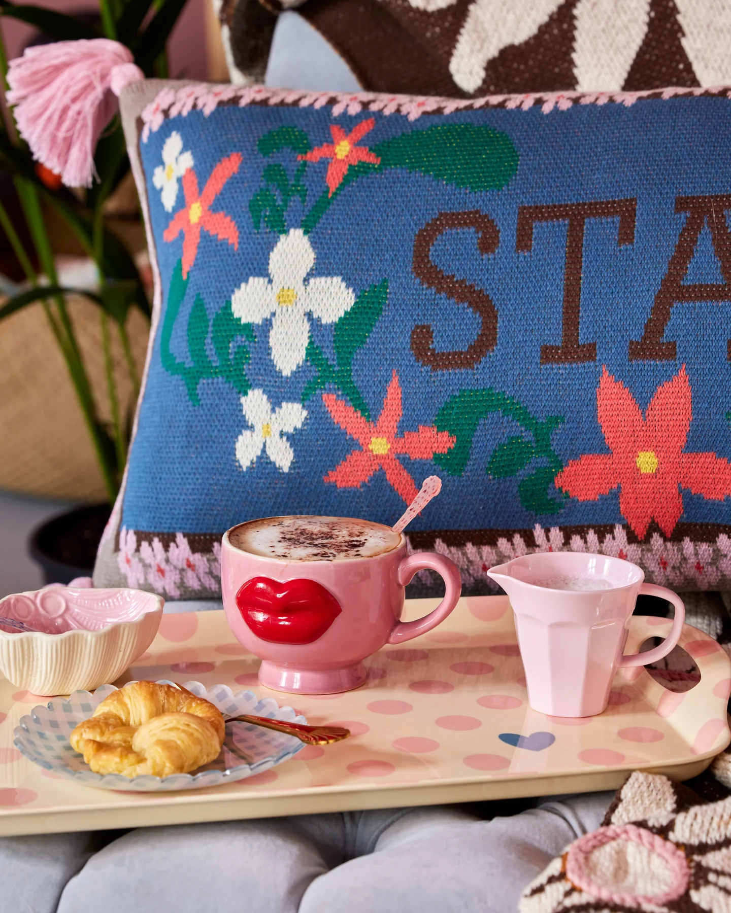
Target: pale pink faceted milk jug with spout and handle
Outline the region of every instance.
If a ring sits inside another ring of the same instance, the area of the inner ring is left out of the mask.
[[[657,662],[683,631],[685,608],[677,593],[644,583],[641,568],[620,558],[546,551],[514,558],[487,573],[513,606],[528,703],[550,716],[602,713],[616,670]],[[673,603],[673,627],[661,645],[623,656],[640,593]]]

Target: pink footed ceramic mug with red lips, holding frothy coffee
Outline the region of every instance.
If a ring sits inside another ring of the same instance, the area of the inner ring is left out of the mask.
[[[460,598],[452,561],[430,551],[409,557],[403,534],[395,548],[373,557],[292,561],[232,545],[230,534],[247,525],[223,537],[221,587],[231,631],[263,660],[259,680],[266,687],[302,694],[358,687],[366,656],[430,631]],[[401,622],[404,587],[424,568],[443,578],[444,599],[423,618]]]

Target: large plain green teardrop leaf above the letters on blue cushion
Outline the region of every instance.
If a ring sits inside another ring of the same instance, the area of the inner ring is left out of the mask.
[[[471,191],[498,190],[518,168],[507,133],[471,123],[412,130],[378,143],[381,168],[407,168]]]

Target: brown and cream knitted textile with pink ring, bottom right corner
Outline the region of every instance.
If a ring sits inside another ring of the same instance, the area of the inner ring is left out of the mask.
[[[633,773],[604,825],[525,888],[520,913],[727,913],[731,796],[699,803],[666,777]]]

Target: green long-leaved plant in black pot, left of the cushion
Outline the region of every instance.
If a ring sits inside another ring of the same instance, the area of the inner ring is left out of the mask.
[[[35,26],[49,41],[112,38],[131,50],[145,76],[164,78],[167,39],[184,5],[185,0],[100,0],[100,16],[95,21],[88,14],[69,16],[42,6],[0,0],[0,16]],[[5,92],[7,57],[1,35],[0,77]],[[58,175],[33,161],[26,143],[19,138],[13,109],[5,105],[5,114],[0,117],[0,171],[12,180],[24,224],[18,225],[0,201],[0,229],[22,269],[25,288],[5,300],[0,307],[0,321],[24,308],[43,309],[68,370],[108,498],[107,504],[77,509],[36,530],[31,553],[44,567],[47,580],[58,582],[68,582],[79,572],[88,572],[126,462],[131,415],[122,414],[112,368],[112,335],[117,334],[122,345],[133,403],[140,381],[125,324],[131,308],[150,316],[143,280],[132,253],[109,225],[110,199],[130,171],[119,118],[104,132],[94,164],[97,180],[90,188],[64,187]],[[49,223],[59,220],[96,265],[96,289],[69,288],[59,283],[49,231]],[[69,296],[85,297],[99,309],[109,421],[101,419],[95,404],[88,365],[69,319]]]

